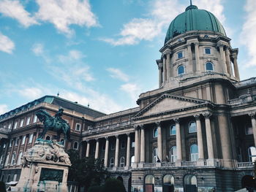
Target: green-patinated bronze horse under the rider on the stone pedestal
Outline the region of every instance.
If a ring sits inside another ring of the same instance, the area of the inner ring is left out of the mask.
[[[56,131],[57,137],[54,139],[59,140],[61,133],[64,134],[65,140],[70,139],[70,126],[65,120],[62,118],[52,117],[45,110],[38,110],[36,115],[44,125],[44,130],[39,134],[38,139],[43,139],[47,131]]]

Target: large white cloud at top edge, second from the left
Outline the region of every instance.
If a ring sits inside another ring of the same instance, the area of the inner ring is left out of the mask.
[[[96,15],[91,12],[89,0],[37,0],[36,18],[53,25],[62,33],[72,35],[70,25],[98,26]]]

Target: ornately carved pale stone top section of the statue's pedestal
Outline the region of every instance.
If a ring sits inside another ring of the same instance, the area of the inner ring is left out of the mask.
[[[69,155],[64,151],[64,146],[56,140],[48,141],[38,139],[34,147],[31,147],[22,157],[22,165],[30,166],[33,162],[46,162],[51,164],[65,164],[70,166]]]

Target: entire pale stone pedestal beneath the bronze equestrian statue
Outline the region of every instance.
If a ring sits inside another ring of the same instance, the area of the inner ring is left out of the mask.
[[[13,191],[67,192],[69,155],[64,146],[53,141],[37,139],[23,158],[20,180]]]

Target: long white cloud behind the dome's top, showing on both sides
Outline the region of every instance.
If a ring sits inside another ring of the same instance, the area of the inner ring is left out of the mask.
[[[184,12],[188,4],[182,5],[178,0],[152,0],[148,4],[148,18],[133,18],[129,23],[124,24],[118,38],[101,38],[110,45],[136,45],[142,40],[151,41],[167,28],[170,22],[181,12]],[[225,21],[223,14],[224,7],[220,0],[198,0],[199,9],[207,9],[222,22]],[[164,31],[165,32],[165,31]]]

